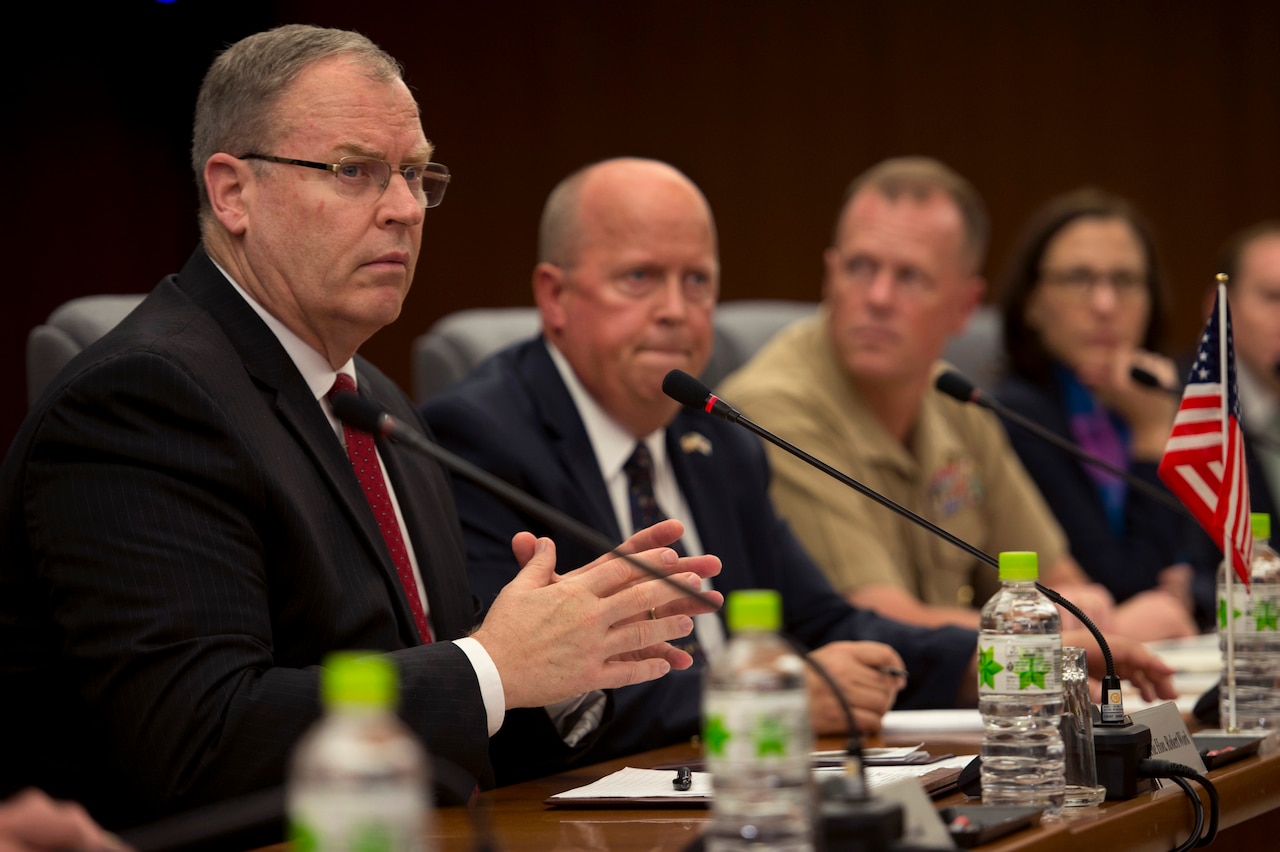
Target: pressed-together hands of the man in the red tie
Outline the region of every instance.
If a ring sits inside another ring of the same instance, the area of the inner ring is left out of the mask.
[[[703,577],[719,573],[721,563],[710,555],[680,558],[663,546],[682,532],[678,521],[664,521],[620,550],[695,592]],[[712,605],[703,604],[609,554],[556,574],[556,545],[527,532],[517,533],[512,551],[524,567],[472,635],[498,668],[508,709],[544,706],[689,668],[692,659],[668,642],[689,636],[691,615],[723,603],[719,592],[703,592]]]

